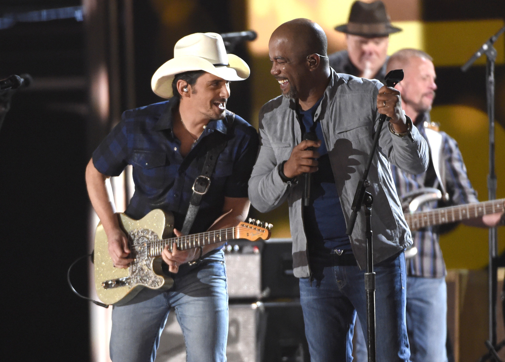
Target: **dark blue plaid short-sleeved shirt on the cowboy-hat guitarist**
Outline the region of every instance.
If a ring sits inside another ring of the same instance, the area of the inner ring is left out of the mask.
[[[180,141],[172,131],[172,109],[177,98],[123,113],[121,122],[93,152],[95,168],[118,176],[133,166],[135,192],[126,214],[140,219],[162,209],[174,214],[181,230],[192,195],[194,180],[203,168],[207,151],[227,140],[203,197],[191,233],[207,230],[222,214],[224,197],[247,197],[247,181],[258,151],[254,127],[235,116],[233,125],[212,120],[186,157],[179,153]]]

